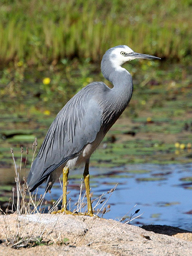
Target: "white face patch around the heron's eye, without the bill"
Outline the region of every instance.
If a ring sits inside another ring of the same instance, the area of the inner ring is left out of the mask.
[[[121,52],[132,53],[133,50],[128,46],[114,48],[110,53],[110,61],[115,68],[119,68],[123,63],[134,60],[134,57],[123,56]]]

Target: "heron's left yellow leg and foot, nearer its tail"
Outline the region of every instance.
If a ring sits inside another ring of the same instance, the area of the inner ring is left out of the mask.
[[[65,212],[66,214],[72,214],[71,211],[67,210],[67,179],[69,175],[69,167],[65,166],[63,168],[63,200],[62,207],[59,211],[53,211],[52,214]]]

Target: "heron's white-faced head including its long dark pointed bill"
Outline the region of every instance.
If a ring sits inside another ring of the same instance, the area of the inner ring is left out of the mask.
[[[119,45],[110,48],[106,51],[103,56],[103,60],[108,59],[114,67],[121,66],[127,61],[132,61],[135,59],[160,59],[152,55],[146,55],[134,52],[131,48],[126,45]]]

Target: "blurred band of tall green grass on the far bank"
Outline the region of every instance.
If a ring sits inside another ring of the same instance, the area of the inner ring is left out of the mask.
[[[120,44],[181,59],[191,54],[191,13],[191,0],[2,0],[0,61],[97,61]]]

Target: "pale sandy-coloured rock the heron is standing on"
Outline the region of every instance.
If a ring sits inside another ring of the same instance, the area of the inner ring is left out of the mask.
[[[7,240],[24,237],[20,249]],[[42,236],[49,245],[23,248]],[[160,225],[143,228],[111,219],[64,214],[0,215],[2,256],[191,256],[192,232]]]

